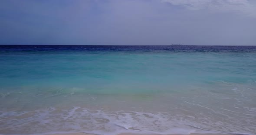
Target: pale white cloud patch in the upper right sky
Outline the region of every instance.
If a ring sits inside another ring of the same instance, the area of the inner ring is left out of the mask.
[[[209,10],[210,12],[236,12],[256,17],[256,4],[249,0],[161,0],[188,10]],[[255,2],[255,1],[254,1]]]

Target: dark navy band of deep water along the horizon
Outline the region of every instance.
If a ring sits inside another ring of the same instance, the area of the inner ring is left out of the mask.
[[[256,52],[256,46],[209,45],[0,45],[0,51]]]

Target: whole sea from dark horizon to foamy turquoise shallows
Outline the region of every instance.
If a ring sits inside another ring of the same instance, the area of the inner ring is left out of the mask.
[[[256,135],[254,46],[0,46],[0,134]]]

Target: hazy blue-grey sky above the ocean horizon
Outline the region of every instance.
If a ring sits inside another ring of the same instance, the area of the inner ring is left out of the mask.
[[[1,45],[256,45],[256,0],[0,0]]]

